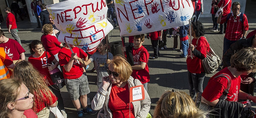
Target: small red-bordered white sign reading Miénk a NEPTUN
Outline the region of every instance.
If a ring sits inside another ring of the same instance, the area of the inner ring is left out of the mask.
[[[130,102],[144,100],[144,86],[138,85],[130,88]]]

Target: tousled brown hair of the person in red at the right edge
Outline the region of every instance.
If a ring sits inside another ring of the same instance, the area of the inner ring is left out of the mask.
[[[231,56],[231,67],[235,67],[237,71],[244,72],[256,70],[256,50],[254,48],[244,48]]]

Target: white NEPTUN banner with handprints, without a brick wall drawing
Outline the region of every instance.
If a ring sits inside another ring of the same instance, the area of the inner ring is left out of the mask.
[[[187,25],[191,0],[114,0],[120,36],[133,36]]]

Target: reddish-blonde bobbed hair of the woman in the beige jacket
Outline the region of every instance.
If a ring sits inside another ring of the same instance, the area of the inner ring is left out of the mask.
[[[121,82],[127,81],[132,74],[132,66],[121,55],[116,55],[110,62],[107,62],[108,66],[113,65],[114,70],[119,73]]]

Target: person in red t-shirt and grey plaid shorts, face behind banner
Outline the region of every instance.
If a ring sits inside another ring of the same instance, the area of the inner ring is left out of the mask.
[[[74,53],[71,53],[68,43],[65,47],[60,49],[58,54],[60,66],[63,66],[63,76],[65,78],[65,84],[69,96],[76,107],[78,118],[83,118],[84,114],[96,114],[97,112],[87,106],[87,94],[90,93],[88,86],[87,76],[83,74],[83,69],[80,64],[77,63],[76,58],[88,59],[88,55],[80,48],[70,45]],[[79,89],[78,89],[79,88]],[[80,96],[81,103],[83,105],[83,111],[81,110],[80,102],[78,100]]]

